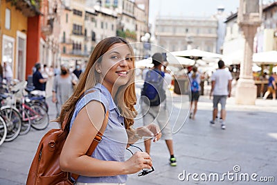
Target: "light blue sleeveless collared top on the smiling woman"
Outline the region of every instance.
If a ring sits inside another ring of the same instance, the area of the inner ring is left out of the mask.
[[[82,97],[77,105],[71,119],[70,128],[73,125],[78,112],[87,105],[91,100],[97,100],[105,106],[105,110],[109,109],[109,118],[106,130],[102,136],[102,141],[98,143],[91,157],[104,161],[125,161],[125,150],[127,146],[127,132],[125,130],[124,118],[120,116],[118,107],[116,107],[111,94],[101,84],[93,87],[93,93],[86,94]],[[93,111],[93,110],[91,110]],[[127,175],[105,176],[105,177],[78,177],[77,182],[83,183],[125,183]]]

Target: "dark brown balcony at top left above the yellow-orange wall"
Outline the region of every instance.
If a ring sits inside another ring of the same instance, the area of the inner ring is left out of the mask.
[[[39,11],[40,0],[6,0],[6,2],[10,2],[12,6],[15,6],[26,17],[42,15],[42,12]]]

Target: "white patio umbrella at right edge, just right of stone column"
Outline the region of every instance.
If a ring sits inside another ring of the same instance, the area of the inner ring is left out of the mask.
[[[277,64],[277,51],[254,53],[253,62],[256,64]]]

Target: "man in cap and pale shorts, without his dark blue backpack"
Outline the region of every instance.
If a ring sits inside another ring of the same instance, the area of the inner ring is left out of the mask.
[[[154,64],[154,69],[164,74],[163,76],[163,89],[171,84],[171,76],[169,73],[164,73],[161,71],[163,66],[163,57],[161,53],[154,53],[152,56],[152,63]],[[151,72],[151,71],[148,71]],[[143,79],[145,80],[145,79]],[[166,146],[168,146],[168,151],[170,152],[170,166],[177,166],[177,161],[173,152],[173,141],[172,132],[169,122],[168,110],[166,109],[166,100],[163,100],[160,105],[149,106],[147,103],[142,101],[142,112],[143,112],[143,125],[148,125],[156,121],[161,129],[161,138],[166,141]],[[150,154],[151,140],[145,139],[145,152]]]

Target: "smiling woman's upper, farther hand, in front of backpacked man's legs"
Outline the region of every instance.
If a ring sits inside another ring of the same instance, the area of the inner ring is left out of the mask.
[[[150,123],[149,125],[144,126],[144,127],[136,128],[136,134],[139,134],[139,136],[141,136],[141,137],[154,136],[153,142],[159,141],[159,139],[161,139],[161,130],[160,130],[159,126],[154,123]]]

